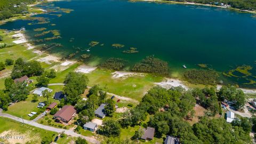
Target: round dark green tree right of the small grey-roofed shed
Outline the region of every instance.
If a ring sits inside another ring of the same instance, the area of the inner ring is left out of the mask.
[[[100,132],[108,137],[118,137],[121,132],[121,125],[114,119],[107,119],[103,121]]]

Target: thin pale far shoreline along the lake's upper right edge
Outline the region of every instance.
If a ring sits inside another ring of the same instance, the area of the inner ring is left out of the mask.
[[[219,5],[202,4],[202,3],[175,2],[175,1],[163,1],[163,0],[129,0],[129,2],[154,2],[154,3],[167,3],[167,4],[170,3],[170,4],[182,4],[182,5],[201,5],[201,6],[219,7],[227,10],[235,10],[239,12],[256,14],[256,11],[241,10],[241,9],[236,9],[234,7],[229,7],[229,6],[219,6]]]

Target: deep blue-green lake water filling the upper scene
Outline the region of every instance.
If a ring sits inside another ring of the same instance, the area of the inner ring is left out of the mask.
[[[154,54],[169,62],[172,72],[182,71],[184,64],[188,68],[198,68],[198,63],[205,63],[219,72],[241,65],[255,66],[256,18],[250,13],[207,6],[118,0],[60,1],[38,6],[48,11],[51,7],[74,11],[61,12],[61,17],[50,15],[59,14],[53,11],[36,16],[49,18],[50,23],[46,24],[27,25],[31,21],[18,20],[0,28],[25,26],[31,39],[36,33],[34,28],[58,29],[62,38],[51,43],[61,43],[63,47],[51,49],[52,53],[68,55],[77,51],[74,47],[81,47],[82,52],[75,57],[90,53],[96,63],[116,57],[127,60],[132,66]],[[55,26],[51,25],[53,23]],[[70,38],[74,41],[70,42]],[[100,44],[90,52],[84,51],[91,41]],[[125,47],[114,49],[111,46],[114,43]],[[139,53],[122,52],[130,47],[136,47]],[[255,81],[255,69],[250,72],[250,77],[227,78],[226,81],[254,86],[244,84],[250,79]]]

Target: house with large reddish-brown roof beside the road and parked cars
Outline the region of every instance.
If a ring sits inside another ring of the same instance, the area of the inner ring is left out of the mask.
[[[73,106],[63,106],[55,115],[53,115],[56,122],[68,123],[76,115],[76,110]]]

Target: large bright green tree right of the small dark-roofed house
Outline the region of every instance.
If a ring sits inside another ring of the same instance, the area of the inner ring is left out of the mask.
[[[84,93],[88,82],[89,79],[81,73],[68,73],[64,81],[66,85],[63,88],[63,91],[67,95],[67,102],[75,105],[81,99],[81,94]]]

